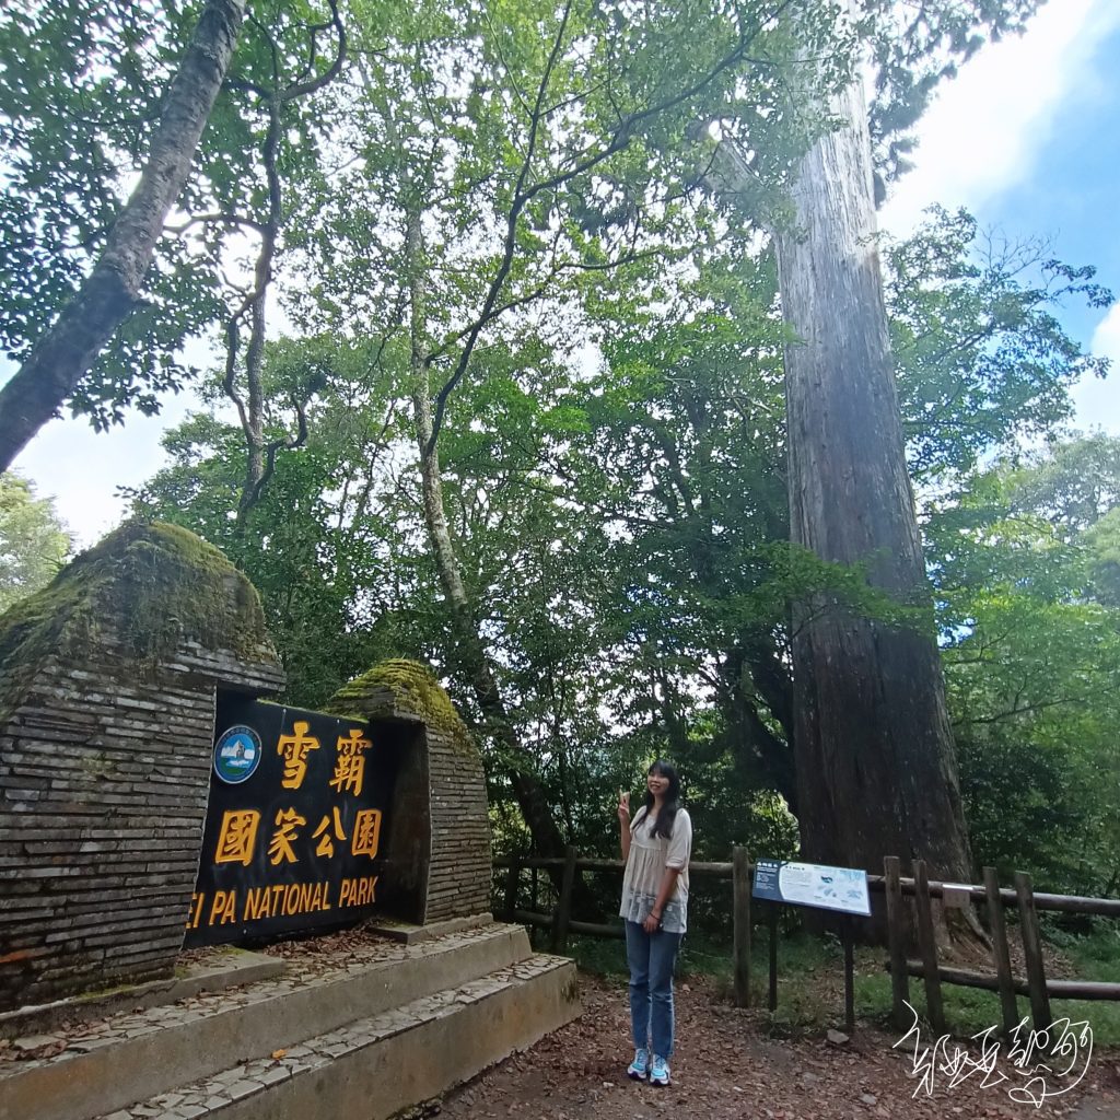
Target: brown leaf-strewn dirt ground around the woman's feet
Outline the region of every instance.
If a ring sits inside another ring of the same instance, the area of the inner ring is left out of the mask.
[[[581,974],[580,989],[580,1019],[424,1112],[464,1120],[1120,1120],[1116,1052],[1093,1054],[1080,1084],[1036,1108],[1021,1099],[1028,1079],[1007,1061],[1006,1044],[987,1084],[982,1071],[952,1084],[952,1073],[944,1068],[953,1053],[950,1043],[950,1057],[939,1062],[932,1093],[926,1093],[921,1074],[914,1073],[913,1046],[893,1048],[897,1037],[861,1025],[847,1040],[767,1038],[764,1016],[729,1006],[704,980],[676,987],[673,1084],[654,1089],[626,1077],[633,1052],[625,984]],[[923,1039],[923,1048],[932,1042]],[[1001,1074],[1007,1080],[999,1081]],[[1047,1093],[1073,1080],[1039,1074]],[[1040,1085],[1029,1082],[1033,1094]],[[1010,1089],[1020,1091],[1020,1100],[1011,1099]]]

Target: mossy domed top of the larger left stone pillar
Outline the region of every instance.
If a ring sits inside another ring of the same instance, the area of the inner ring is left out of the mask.
[[[85,661],[113,640],[141,671],[189,640],[277,661],[255,588],[217,549],[178,525],[125,522],[0,616],[0,718],[48,655]]]

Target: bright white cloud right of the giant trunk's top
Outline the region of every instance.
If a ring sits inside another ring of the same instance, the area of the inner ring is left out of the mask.
[[[933,203],[974,211],[1029,175],[1057,108],[1117,27],[1117,0],[1052,0],[1025,35],[984,47],[923,116],[915,169],[894,187],[883,228],[907,233]]]

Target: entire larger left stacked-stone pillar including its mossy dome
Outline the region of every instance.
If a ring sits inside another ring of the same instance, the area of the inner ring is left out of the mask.
[[[178,530],[124,526],[0,618],[0,1009],[170,974],[216,689],[281,684],[255,591]]]

